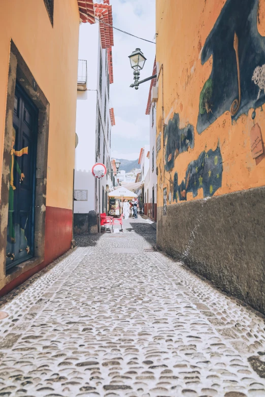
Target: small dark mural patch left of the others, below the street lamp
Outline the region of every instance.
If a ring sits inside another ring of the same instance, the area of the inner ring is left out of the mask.
[[[175,159],[182,152],[194,147],[194,128],[191,124],[179,127],[179,114],[175,113],[172,120],[164,127],[165,139],[165,170],[174,167]]]

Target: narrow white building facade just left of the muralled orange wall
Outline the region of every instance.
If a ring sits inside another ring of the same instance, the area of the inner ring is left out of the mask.
[[[156,74],[154,61],[153,75]],[[156,79],[151,80],[146,115],[149,115],[150,153],[149,170],[145,177],[145,215],[156,221],[157,169],[156,169]]]

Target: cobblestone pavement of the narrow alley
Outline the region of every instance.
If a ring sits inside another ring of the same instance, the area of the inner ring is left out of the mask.
[[[0,396],[263,396],[264,319],[154,250],[141,218],[0,300]]]

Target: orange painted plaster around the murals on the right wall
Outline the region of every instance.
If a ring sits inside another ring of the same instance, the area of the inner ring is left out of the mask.
[[[214,151],[218,142],[223,172],[222,186],[214,193],[215,196],[265,185],[265,158],[260,156],[255,160],[251,156],[253,108],[233,124],[227,111],[201,134],[196,130],[200,93],[211,74],[213,63],[210,57],[202,65],[202,48],[224,4],[225,0],[156,0],[156,60],[159,68],[162,65],[158,79],[157,134],[163,131],[163,124],[168,124],[174,113],[179,113],[180,128],[188,124],[194,127],[194,148],[179,154],[171,171],[164,171],[161,139],[157,159],[158,206],[163,205],[163,188],[167,186],[168,193],[172,189],[169,180],[173,180],[174,173],[178,173],[179,182],[185,181],[188,164],[196,160],[206,147],[206,151]],[[264,0],[259,1],[257,24],[259,33],[265,35]],[[212,110],[215,112],[214,108]],[[256,109],[255,123],[260,126],[264,142],[265,117],[260,107]],[[194,198],[191,192],[187,193],[187,201],[202,197],[203,189],[199,189]]]

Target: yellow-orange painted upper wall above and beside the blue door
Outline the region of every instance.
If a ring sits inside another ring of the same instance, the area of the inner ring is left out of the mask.
[[[54,1],[53,27],[43,0],[3,0],[0,11],[0,172],[12,39],[50,103],[46,204],[72,209],[79,37],[77,0]]]

